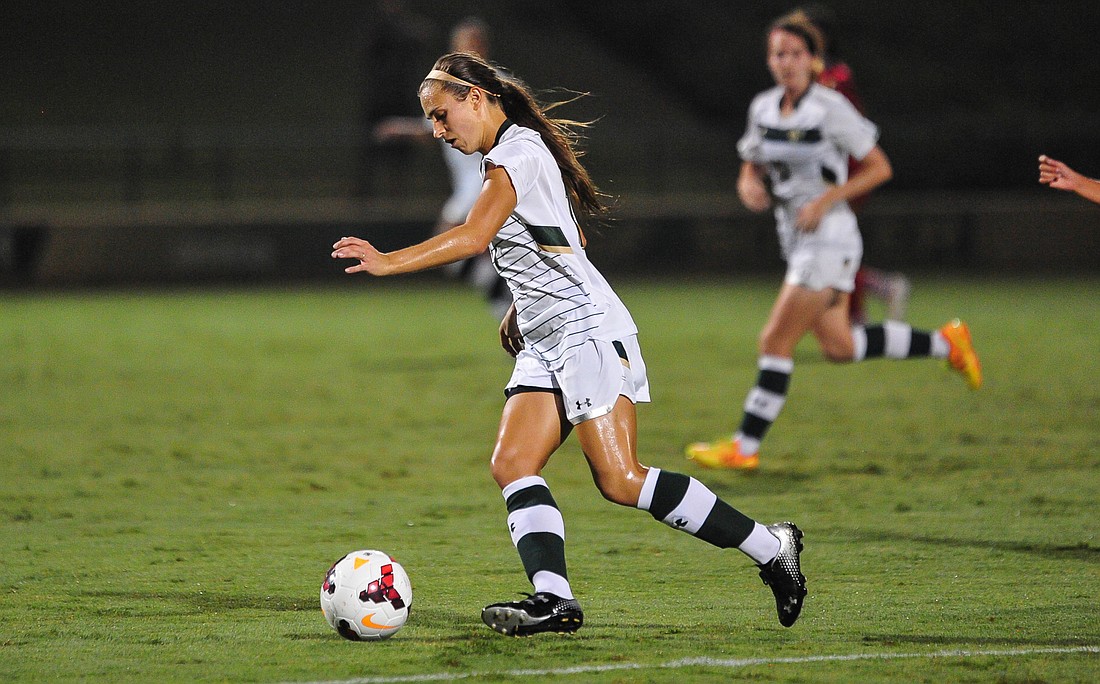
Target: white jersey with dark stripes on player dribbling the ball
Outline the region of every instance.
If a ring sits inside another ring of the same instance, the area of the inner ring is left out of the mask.
[[[516,302],[528,349],[551,371],[588,339],[622,340],[638,329],[592,265],[561,169],[538,132],[506,121],[484,164],[508,172],[516,209],[490,243]]]

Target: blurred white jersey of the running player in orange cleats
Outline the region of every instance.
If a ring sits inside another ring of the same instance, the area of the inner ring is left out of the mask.
[[[828,185],[848,179],[848,157],[867,156],[878,142],[878,129],[843,95],[817,84],[810,86],[785,117],[780,112],[782,98],[783,88],[776,86],[752,99],[737,152],[744,161],[768,170],[783,253],[789,254],[801,241],[858,243],[854,220],[826,221],[822,224],[825,230],[799,233],[794,218],[800,207]],[[847,202],[837,202],[829,213],[850,211]],[[833,230],[832,225],[838,228]]]

